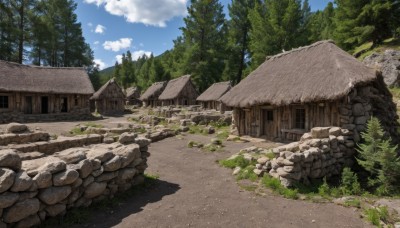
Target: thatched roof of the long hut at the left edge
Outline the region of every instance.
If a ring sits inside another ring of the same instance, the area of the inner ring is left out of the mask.
[[[93,94],[84,68],[39,67],[0,60],[0,92]]]

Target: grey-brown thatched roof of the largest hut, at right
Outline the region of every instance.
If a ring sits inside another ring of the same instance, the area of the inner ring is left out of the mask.
[[[335,100],[356,84],[374,79],[375,70],[332,41],[320,41],[267,58],[221,101],[231,107],[250,107]]]

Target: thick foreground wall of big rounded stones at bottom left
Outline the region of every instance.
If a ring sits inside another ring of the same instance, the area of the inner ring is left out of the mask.
[[[123,133],[118,142],[75,146],[34,159],[23,159],[15,149],[0,150],[0,227],[38,225],[142,183],[149,144],[149,139]]]

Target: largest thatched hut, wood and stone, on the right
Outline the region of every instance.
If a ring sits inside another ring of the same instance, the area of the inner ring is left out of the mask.
[[[396,105],[380,72],[332,41],[268,57],[221,101],[234,108],[239,135],[297,141],[314,127],[336,126],[357,142],[375,116],[397,139]]]

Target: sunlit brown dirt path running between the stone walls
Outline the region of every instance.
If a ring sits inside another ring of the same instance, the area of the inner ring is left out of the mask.
[[[243,191],[231,171],[215,161],[250,144],[227,143],[231,152],[202,152],[186,147],[204,136],[153,143],[150,174],[156,188],[101,212],[85,227],[369,227],[353,208],[334,204],[257,196]]]

